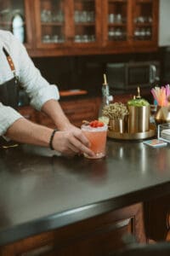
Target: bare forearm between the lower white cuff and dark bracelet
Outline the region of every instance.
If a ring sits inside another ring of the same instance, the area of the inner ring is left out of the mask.
[[[17,119],[8,128],[5,136],[19,143],[48,147],[52,131],[48,127],[37,125],[27,119],[21,118]]]

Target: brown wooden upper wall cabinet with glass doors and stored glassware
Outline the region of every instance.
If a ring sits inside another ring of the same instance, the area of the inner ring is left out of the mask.
[[[24,18],[31,56],[96,55],[157,49],[159,0],[1,1],[0,28]]]

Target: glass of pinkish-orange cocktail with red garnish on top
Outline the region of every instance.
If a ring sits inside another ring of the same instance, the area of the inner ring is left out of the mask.
[[[88,154],[84,154],[84,156],[90,159],[104,157],[108,126],[91,127],[90,125],[82,125],[81,129],[90,142],[90,149],[94,151],[95,154],[94,157],[91,157]]]

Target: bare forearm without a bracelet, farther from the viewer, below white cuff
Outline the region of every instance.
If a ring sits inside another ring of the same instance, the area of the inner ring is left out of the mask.
[[[65,116],[59,102],[56,100],[49,100],[42,106],[42,112],[47,113],[48,116],[53,119],[54,125],[60,130],[67,130],[67,126],[71,125],[69,119]]]

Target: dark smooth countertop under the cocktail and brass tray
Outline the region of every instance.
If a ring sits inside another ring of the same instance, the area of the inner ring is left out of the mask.
[[[170,146],[107,141],[101,160],[0,150],[0,245],[170,193]]]

